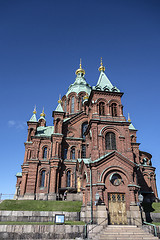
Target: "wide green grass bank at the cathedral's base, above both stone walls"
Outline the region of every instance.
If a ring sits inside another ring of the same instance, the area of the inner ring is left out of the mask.
[[[4,200],[0,204],[0,210],[80,212],[81,206],[80,201]]]

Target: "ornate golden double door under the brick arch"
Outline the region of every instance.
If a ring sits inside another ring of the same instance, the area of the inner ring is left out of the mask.
[[[126,202],[124,193],[109,193],[109,223],[127,224]]]

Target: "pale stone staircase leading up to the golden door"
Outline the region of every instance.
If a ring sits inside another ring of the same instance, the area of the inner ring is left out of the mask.
[[[92,235],[92,234],[91,234]],[[100,233],[90,236],[93,240],[156,240],[158,237],[133,225],[109,225]],[[90,238],[89,238],[90,239]]]

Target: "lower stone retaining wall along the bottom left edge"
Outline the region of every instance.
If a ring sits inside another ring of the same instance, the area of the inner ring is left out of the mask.
[[[0,239],[76,239],[85,226],[78,225],[0,225]]]

